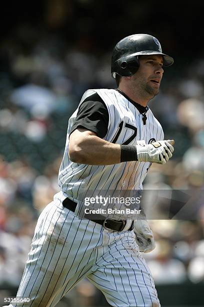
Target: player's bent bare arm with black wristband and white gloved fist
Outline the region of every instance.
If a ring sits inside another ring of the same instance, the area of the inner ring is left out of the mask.
[[[87,165],[113,165],[126,161],[164,164],[172,157],[171,142],[174,141],[161,140],[146,145],[141,140],[134,146],[120,145],[98,137],[93,131],[78,128],[69,136],[68,156],[72,162]]]

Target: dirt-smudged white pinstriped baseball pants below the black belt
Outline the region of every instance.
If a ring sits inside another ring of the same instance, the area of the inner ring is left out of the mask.
[[[55,306],[83,277],[111,306],[160,306],[133,230],[107,231],[55,201],[40,214],[28,255],[17,296],[30,302],[9,307]]]

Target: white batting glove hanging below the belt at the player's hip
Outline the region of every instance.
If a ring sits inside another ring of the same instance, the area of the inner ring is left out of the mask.
[[[140,252],[149,253],[155,248],[153,234],[146,220],[134,221],[134,233]]]

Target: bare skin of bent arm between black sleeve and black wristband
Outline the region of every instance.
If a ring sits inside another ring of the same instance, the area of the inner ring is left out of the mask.
[[[77,128],[69,136],[68,156],[72,162],[87,165],[120,163],[120,145],[105,141],[96,133]]]

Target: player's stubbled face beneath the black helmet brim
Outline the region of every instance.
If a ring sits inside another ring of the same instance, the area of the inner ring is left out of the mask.
[[[158,94],[163,74],[163,59],[160,55],[144,55],[139,57],[139,69],[132,76],[134,86],[143,91],[144,95]]]

